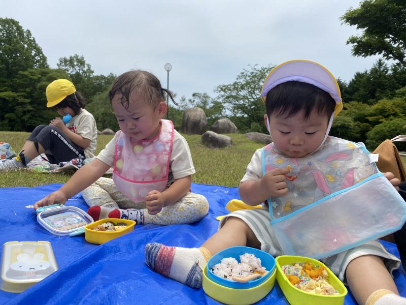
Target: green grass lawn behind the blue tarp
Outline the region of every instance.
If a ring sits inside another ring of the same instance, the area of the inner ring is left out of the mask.
[[[29,133],[0,131],[0,141],[8,142],[18,152]],[[200,184],[236,187],[245,174],[254,151],[263,146],[248,140],[242,134],[230,134],[233,145],[227,148],[208,148],[201,143],[200,135],[184,135],[189,143],[196,173],[193,182]],[[99,135],[96,154],[112,139]],[[0,172],[0,187],[34,187],[69,180],[72,173],[36,173],[26,170]]]

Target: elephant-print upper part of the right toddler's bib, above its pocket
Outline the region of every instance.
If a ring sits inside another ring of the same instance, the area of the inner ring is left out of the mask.
[[[285,175],[289,192],[268,200],[272,219],[287,216],[378,172],[369,162],[365,147],[335,137],[328,137],[314,154],[298,159],[281,155],[273,143],[262,149],[264,173],[275,168],[290,169]]]

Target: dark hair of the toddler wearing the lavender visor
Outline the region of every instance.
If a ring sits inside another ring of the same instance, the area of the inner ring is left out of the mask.
[[[287,81],[271,89],[266,95],[266,114],[272,113],[289,117],[304,111],[308,119],[315,109],[318,114],[328,117],[334,112],[335,101],[324,90],[300,81]]]

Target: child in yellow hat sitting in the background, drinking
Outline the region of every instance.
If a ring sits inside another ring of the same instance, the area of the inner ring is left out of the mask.
[[[0,162],[0,171],[23,168],[37,156],[45,153],[52,164],[78,159],[92,158],[97,143],[96,121],[84,109],[86,102],[67,79],[57,79],[46,89],[47,107],[61,116],[71,116],[65,124],[55,117],[49,125],[37,126],[24,143],[19,155]]]

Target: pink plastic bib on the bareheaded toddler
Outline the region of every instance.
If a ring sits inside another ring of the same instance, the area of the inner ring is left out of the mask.
[[[135,202],[144,201],[152,190],[162,192],[167,184],[174,125],[166,119],[160,125],[153,139],[134,141],[120,132],[116,141],[113,180]]]

